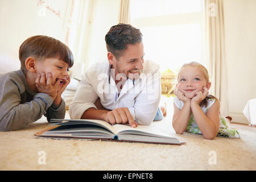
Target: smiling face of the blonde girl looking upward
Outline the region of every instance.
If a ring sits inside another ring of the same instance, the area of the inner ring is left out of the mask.
[[[210,82],[206,82],[200,67],[186,66],[181,68],[178,77],[177,89],[187,98],[195,97],[196,92],[204,92],[203,87],[209,90]]]

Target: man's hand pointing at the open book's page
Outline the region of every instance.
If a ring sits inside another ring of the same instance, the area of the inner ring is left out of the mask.
[[[127,107],[120,107],[112,111],[108,111],[105,116],[105,121],[114,124],[126,124],[127,122],[131,127],[137,127],[138,123],[134,121]]]

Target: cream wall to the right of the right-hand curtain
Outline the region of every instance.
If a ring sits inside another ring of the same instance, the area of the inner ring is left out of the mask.
[[[256,1],[225,0],[228,104],[233,122],[248,123],[242,110],[256,98]]]

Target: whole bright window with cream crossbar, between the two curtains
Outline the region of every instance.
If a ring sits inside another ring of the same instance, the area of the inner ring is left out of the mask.
[[[177,71],[182,64],[204,64],[201,0],[131,0],[131,24],[143,34],[145,60],[160,72]]]

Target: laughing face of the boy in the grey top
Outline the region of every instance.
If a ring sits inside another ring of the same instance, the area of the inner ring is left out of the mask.
[[[42,61],[37,61],[36,73],[42,75],[46,74],[48,78],[48,73],[52,74],[52,85],[56,83],[57,80],[61,79],[58,90],[63,85],[63,81],[68,78],[69,65],[62,60],[47,58]]]

